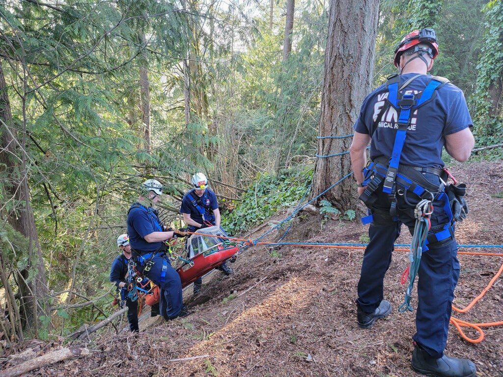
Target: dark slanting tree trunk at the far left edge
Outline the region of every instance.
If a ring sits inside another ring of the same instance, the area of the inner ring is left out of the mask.
[[[12,200],[12,210],[7,214],[9,223],[15,230],[23,234],[29,241],[28,265],[17,277],[21,320],[24,328],[29,328],[33,336],[38,336],[39,316],[48,313],[38,312],[38,305],[44,303],[47,297],[47,280],[44,261],[38,240],[35,218],[30,201],[28,186],[28,171],[21,163],[25,158],[16,158],[18,154],[26,153],[17,139],[17,129],[11,113],[11,104],[7,91],[4,71],[0,64],[0,172],[6,180],[6,200]],[[29,271],[36,272],[30,274]],[[33,277],[29,278],[29,276]],[[42,305],[43,306],[43,305]],[[33,327],[31,327],[33,326]]]

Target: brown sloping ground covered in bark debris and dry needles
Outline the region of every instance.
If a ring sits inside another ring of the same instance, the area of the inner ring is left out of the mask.
[[[503,163],[457,164],[451,171],[469,186],[470,214],[457,226],[458,243],[503,244],[503,199],[492,196],[503,192]],[[271,220],[285,216],[277,214]],[[320,216],[297,217],[285,241],[366,239],[367,227],[359,222],[328,221],[323,229],[320,223]],[[269,240],[279,236],[273,233]],[[397,242],[409,241],[404,229]],[[408,265],[406,254],[395,252],[386,274],[385,297],[393,311],[369,330],[358,327],[354,302],[362,258],[363,250],[249,248],[232,264],[233,275],[223,277],[216,271],[202,295],[187,298],[189,316],[169,323],[146,318],[137,336],[128,331],[102,333],[88,344],[90,356],[31,375],[416,376],[410,368],[415,315],[397,312],[405,291],[400,277]],[[503,259],[459,255],[459,260],[454,304],[464,308],[486,287]],[[414,292],[413,305],[416,298]],[[497,279],[467,314],[455,316],[469,322],[502,321],[503,279]],[[450,325],[446,353],[474,360],[478,376],[503,376],[503,327],[484,332],[481,343],[471,344]],[[477,337],[474,331],[466,333]],[[173,361],[195,356],[204,357]]]

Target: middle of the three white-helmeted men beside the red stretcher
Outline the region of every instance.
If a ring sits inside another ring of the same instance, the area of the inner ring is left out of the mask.
[[[172,267],[165,241],[173,237],[185,237],[181,230],[166,231],[159,220],[154,205],[162,195],[162,184],[147,179],[140,187],[138,201],[128,212],[127,229],[135,268],[148,277],[160,289],[159,312],[165,320],[188,315],[183,305],[180,275]]]

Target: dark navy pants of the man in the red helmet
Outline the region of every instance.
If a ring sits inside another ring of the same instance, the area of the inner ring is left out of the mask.
[[[427,173],[424,176],[431,183],[440,182],[434,174]],[[370,211],[374,214],[374,223],[369,229],[370,242],[365,250],[358,282],[357,303],[368,313],[374,312],[383,300],[384,275],[391,263],[393,243],[400,235],[402,223],[411,232],[415,224],[415,219],[404,211],[409,206],[403,197],[397,195],[399,219],[393,221],[389,215],[390,201],[388,195],[382,193],[382,184],[376,194],[377,202]],[[437,198],[438,196],[433,202],[432,229],[449,223],[448,214],[444,210],[444,200]],[[418,199],[408,198],[408,201],[415,205]],[[413,339],[432,357],[440,358],[447,343],[451,304],[459,277],[459,262],[454,238],[444,244],[437,243],[428,247],[429,250],[423,252],[418,271],[416,333]]]

